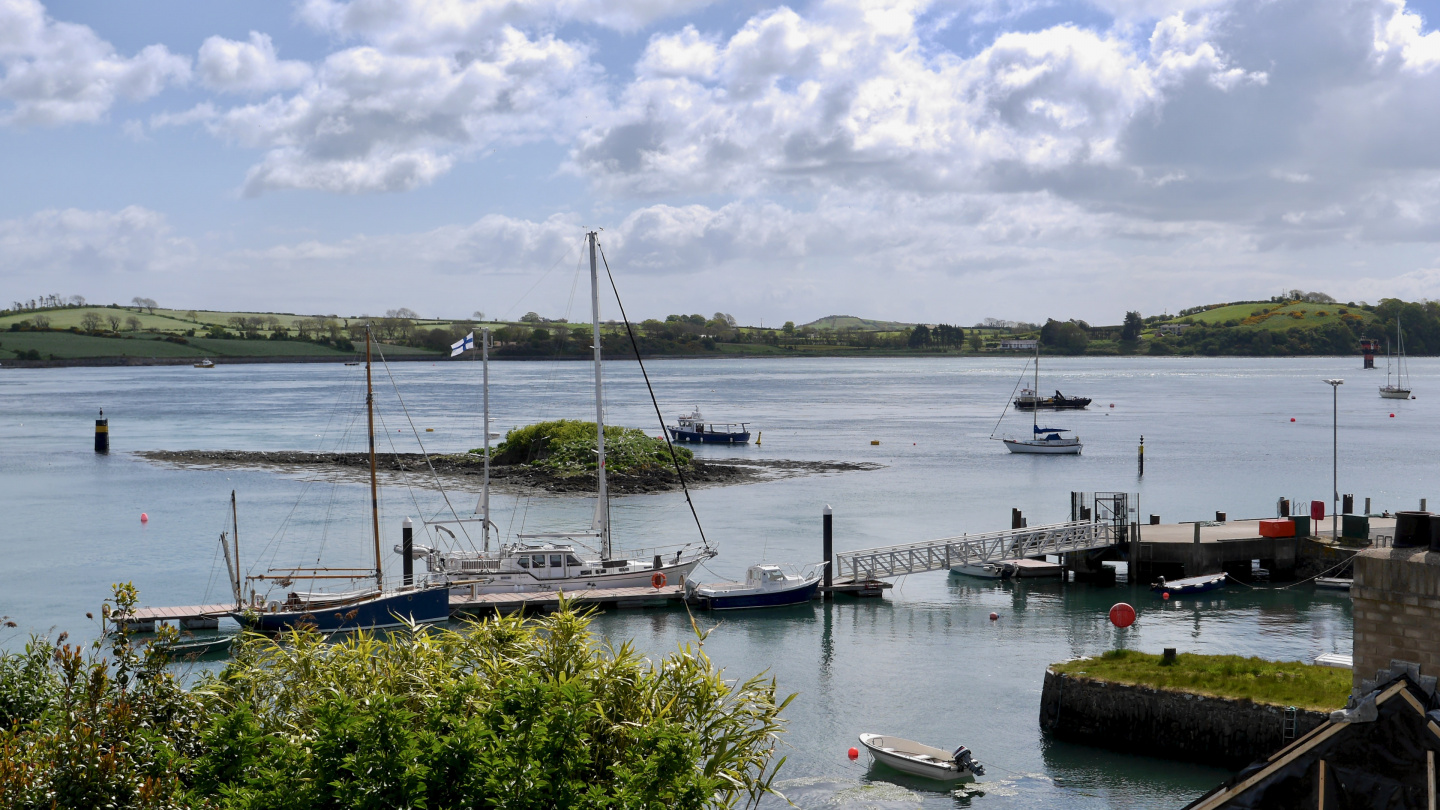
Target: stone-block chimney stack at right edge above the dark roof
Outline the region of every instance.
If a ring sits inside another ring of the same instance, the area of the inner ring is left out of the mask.
[[[1440,673],[1440,553],[1367,549],[1354,565],[1355,687],[1391,660]]]

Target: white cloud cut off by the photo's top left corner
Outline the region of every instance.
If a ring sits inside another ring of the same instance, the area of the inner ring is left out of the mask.
[[[151,45],[125,58],[86,26],[52,20],[39,0],[0,0],[0,124],[94,123],[117,97],[140,101],[190,78],[190,61]]]

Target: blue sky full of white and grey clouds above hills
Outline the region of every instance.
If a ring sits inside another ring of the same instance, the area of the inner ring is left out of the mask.
[[[1440,298],[1440,0],[0,0],[0,306]],[[605,317],[613,317],[605,304]]]

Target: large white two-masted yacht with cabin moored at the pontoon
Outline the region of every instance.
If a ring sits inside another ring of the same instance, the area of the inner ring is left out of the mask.
[[[442,551],[415,546],[425,559],[426,582],[455,595],[583,591],[589,588],[661,588],[683,585],[701,562],[716,556],[707,542],[647,551],[618,551],[611,535],[611,503],[605,467],[605,382],[600,366],[600,288],[596,232],[586,233],[590,251],[590,323],[595,352],[596,500],[589,529],[517,533],[514,542],[490,549],[490,437],[485,437],[485,479],[475,520],[482,525],[480,551]],[[488,334],[481,343],[485,363],[485,418],[490,424]],[[438,525],[444,522],[429,522]],[[446,530],[446,533],[449,533]],[[454,535],[452,535],[454,536]],[[593,546],[590,545],[593,543]]]

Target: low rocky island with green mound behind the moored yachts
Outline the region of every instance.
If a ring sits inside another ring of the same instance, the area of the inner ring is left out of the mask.
[[[664,440],[634,428],[605,428],[606,481],[615,494],[657,493],[680,489],[675,461],[691,487],[749,484],[796,476],[877,470],[864,461],[789,461],[780,458],[698,460],[675,447],[675,458]],[[187,468],[258,468],[288,474],[334,473],[361,480],[370,471],[367,453],[305,453],[291,450],[147,450],[137,455],[150,461]],[[595,491],[595,422],[560,419],[510,431],[491,448],[490,481],[498,491],[590,493]],[[464,480],[478,489],[485,457],[481,450],[436,454],[380,453],[376,464],[384,476],[439,476],[448,483]]]

